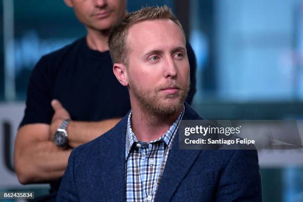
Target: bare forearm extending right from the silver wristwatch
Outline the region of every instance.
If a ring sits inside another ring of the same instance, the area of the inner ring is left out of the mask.
[[[119,120],[120,118],[98,122],[71,121],[67,127],[68,145],[74,148],[94,140],[114,127]]]

